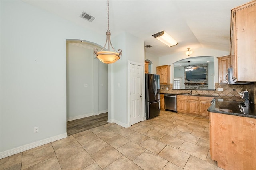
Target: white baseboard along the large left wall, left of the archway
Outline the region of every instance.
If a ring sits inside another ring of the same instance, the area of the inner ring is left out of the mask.
[[[56,140],[60,140],[60,139],[66,138],[66,137],[68,137],[68,134],[64,133],[64,134],[53,136],[53,137],[43,139],[43,140],[40,140],[40,141],[37,141],[37,142],[26,144],[26,145],[23,145],[23,146],[14,148],[14,149],[6,150],[6,151],[0,153],[0,159],[6,158],[8,156],[12,156],[14,154],[18,154],[20,152],[24,152],[24,151],[32,149],[32,148],[36,148],[38,146],[42,146],[44,144],[48,144],[50,142],[54,142]]]

